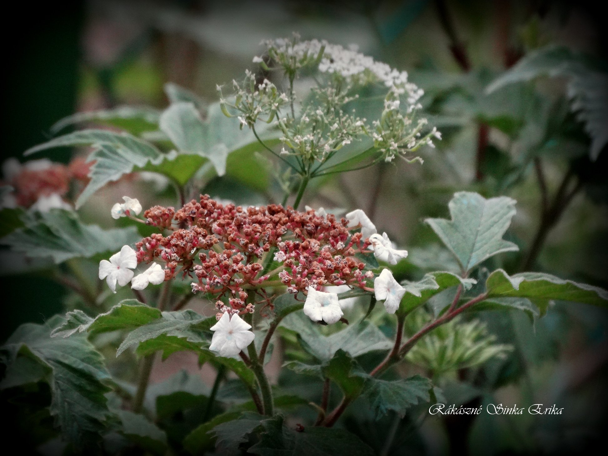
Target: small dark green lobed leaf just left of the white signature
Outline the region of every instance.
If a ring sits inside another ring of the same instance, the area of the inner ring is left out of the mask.
[[[370,402],[376,420],[387,415],[389,410],[403,418],[410,407],[430,400],[431,388],[430,380],[420,375],[392,381],[369,377],[365,381],[363,395]]]

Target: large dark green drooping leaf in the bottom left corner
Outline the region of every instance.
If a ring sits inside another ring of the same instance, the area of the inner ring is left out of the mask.
[[[2,351],[7,354],[7,377],[13,367],[23,367],[16,364],[22,357],[44,366],[52,396],[50,413],[55,416],[66,440],[83,448],[98,441],[105,429],[110,414],[105,393],[110,389],[104,383],[110,376],[102,355],[85,336],[50,337],[52,328],[62,322],[60,317],[54,317],[46,325],[21,325]],[[4,384],[2,388],[8,386]]]

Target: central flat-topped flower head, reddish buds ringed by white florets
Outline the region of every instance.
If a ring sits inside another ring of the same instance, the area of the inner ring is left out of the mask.
[[[137,219],[139,201],[124,199],[112,215]],[[395,313],[404,293],[388,269],[376,277],[364,261],[365,254],[373,252],[379,260],[396,264],[407,252],[395,249],[386,233],[378,235],[362,210],[337,219],[320,210],[300,212],[278,204],[243,208],[202,195],[177,211],[151,207],[143,217],[161,232],[143,238],[135,249],[124,246],[110,261],[102,260],[99,277],[106,278],[112,291],[116,283],[131,281],[131,288],[140,290],[148,283],[190,278],[193,292],[215,301],[216,317],[223,322],[217,330],[230,329],[227,322],[232,320],[238,325],[240,316],[253,313],[256,303],[272,306],[272,297],[285,289],[296,297],[306,295],[304,313],[325,323],[342,317],[337,294],[323,291],[325,287],[376,292],[390,313]],[[151,266],[133,277],[131,269],[142,263]],[[224,356],[232,353],[218,350]]]

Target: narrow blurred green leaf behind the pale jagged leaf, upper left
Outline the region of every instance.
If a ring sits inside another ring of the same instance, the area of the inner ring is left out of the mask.
[[[117,106],[112,109],[102,109],[100,111],[77,112],[72,116],[61,119],[50,127],[52,134],[57,134],[66,126],[77,123],[100,123],[102,125],[115,126],[131,134],[138,135],[143,131],[156,130],[161,113],[158,109],[148,106]]]

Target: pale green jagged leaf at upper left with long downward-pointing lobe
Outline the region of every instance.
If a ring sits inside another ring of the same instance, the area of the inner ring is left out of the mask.
[[[64,146],[89,145],[95,150],[87,161],[95,163],[89,173],[89,184],[76,200],[76,209],[108,182],[114,182],[134,167],[142,168],[148,162],[158,164],[165,158],[156,147],[128,133],[114,133],[108,130],[80,130],[65,134],[30,148],[26,155],[42,150]]]

